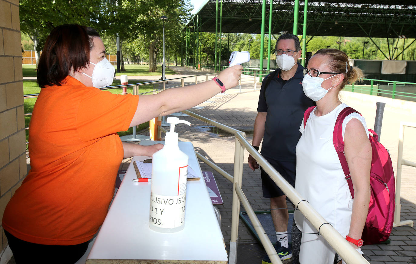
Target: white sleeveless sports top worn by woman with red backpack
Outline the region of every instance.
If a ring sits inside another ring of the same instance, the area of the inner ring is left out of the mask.
[[[335,121],[339,112],[348,107],[342,103],[323,116],[311,112],[306,122],[300,126],[299,142],[296,146],[295,189],[330,223],[343,237],[348,235],[352,214],[352,196],[345,180],[337,152],[332,142]],[[357,118],[368,134],[364,117],[357,113],[348,115],[342,124],[342,137],[349,120]],[[317,230],[295,210],[294,219],[302,232]],[[335,251],[324,238],[317,234],[302,234],[299,262],[301,264],[333,264]]]

